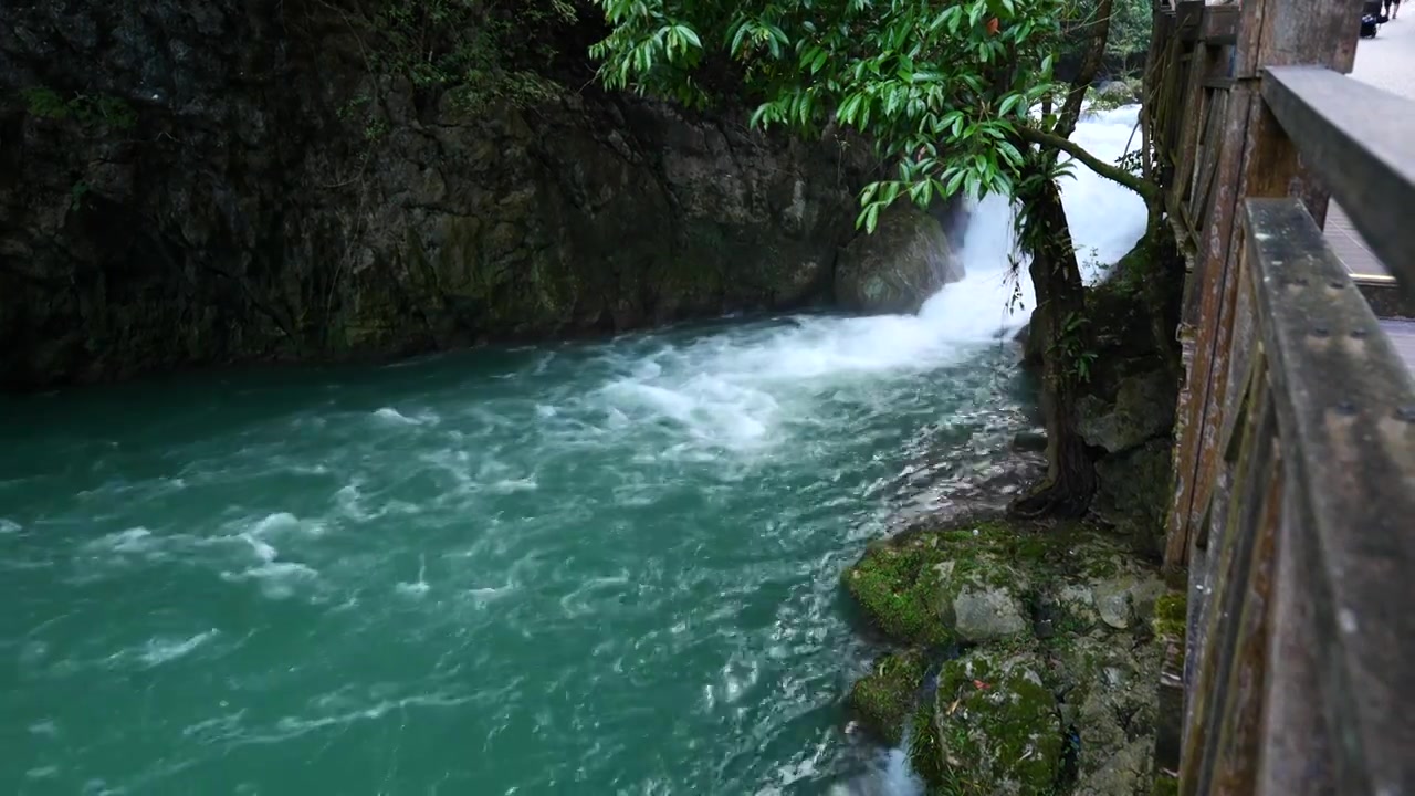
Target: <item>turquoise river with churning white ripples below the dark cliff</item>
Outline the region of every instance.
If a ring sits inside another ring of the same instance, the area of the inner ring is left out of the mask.
[[[1006,224],[918,316],[4,399],[0,793],[913,792],[838,578],[1024,425]]]

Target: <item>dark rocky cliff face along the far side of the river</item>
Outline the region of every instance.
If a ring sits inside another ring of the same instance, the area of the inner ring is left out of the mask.
[[[338,3],[6,3],[0,385],[828,302],[860,149],[468,106],[372,68]]]

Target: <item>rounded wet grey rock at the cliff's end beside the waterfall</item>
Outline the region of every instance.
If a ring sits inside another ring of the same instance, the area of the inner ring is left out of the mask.
[[[873,234],[855,238],[841,252],[835,300],[856,312],[913,313],[962,278],[962,262],[938,220],[901,201],[880,214]]]

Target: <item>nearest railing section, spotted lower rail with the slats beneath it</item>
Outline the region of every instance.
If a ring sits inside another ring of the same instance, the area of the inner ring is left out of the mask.
[[[1240,228],[1182,793],[1412,793],[1415,384],[1302,200]]]

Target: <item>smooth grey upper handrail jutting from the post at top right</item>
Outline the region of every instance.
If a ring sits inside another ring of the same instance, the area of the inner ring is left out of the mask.
[[[1415,297],[1415,102],[1330,69],[1274,67],[1262,96],[1380,261]]]

